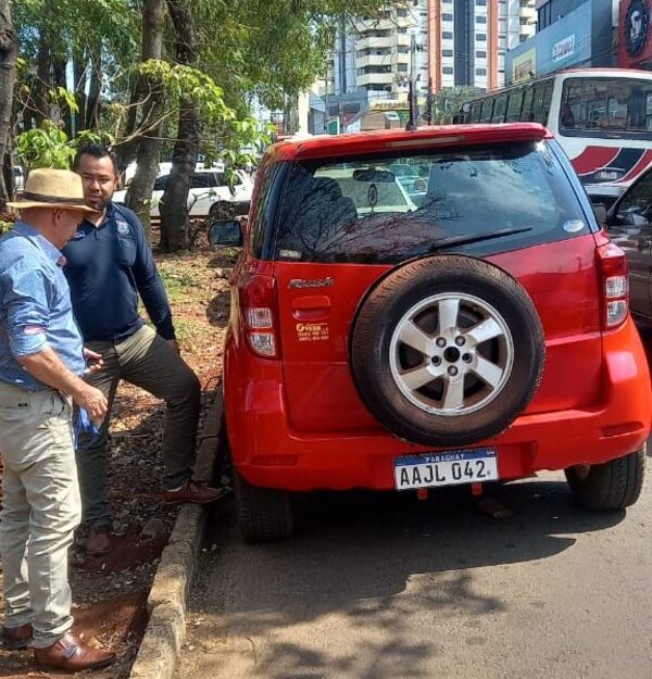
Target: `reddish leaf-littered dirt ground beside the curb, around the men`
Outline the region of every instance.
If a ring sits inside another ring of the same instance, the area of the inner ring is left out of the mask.
[[[158,255],[156,261],[184,359],[202,383],[203,423],[218,387],[228,318],[226,276],[233,262],[215,259],[209,247],[200,247],[188,255]],[[72,550],[75,627],[90,644],[111,647],[118,654],[115,665],[91,674],[92,677],[128,676],[147,624],[146,601],[151,581],[178,512],[160,502],[163,416],[161,401],[130,385],[121,385],[113,406],[108,453],[115,546],[105,557],[87,557],[80,530]],[[0,612],[2,608],[0,592]],[[54,676],[64,675],[37,670],[30,651],[10,653],[0,647],[0,678]]]

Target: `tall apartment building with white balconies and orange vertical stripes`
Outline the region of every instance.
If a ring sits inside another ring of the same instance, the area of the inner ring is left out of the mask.
[[[336,42],[326,77],[335,97],[405,100],[429,87],[504,84],[504,55],[536,29],[536,0],[412,0],[361,20]]]

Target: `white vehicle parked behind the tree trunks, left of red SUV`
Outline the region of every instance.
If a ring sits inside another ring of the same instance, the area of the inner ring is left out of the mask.
[[[151,216],[161,216],[160,205],[165,193],[170,174],[161,175],[154,183],[151,202]],[[117,203],[126,201],[127,190],[116,191],[113,200]],[[206,217],[211,208],[220,202],[250,202],[253,181],[246,172],[237,169],[235,183],[228,186],[225,173],[218,169],[196,169],[188,192],[188,213],[192,217]]]

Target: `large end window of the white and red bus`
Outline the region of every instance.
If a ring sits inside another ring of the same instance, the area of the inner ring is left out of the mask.
[[[652,80],[569,78],[560,111],[562,135],[652,138]]]

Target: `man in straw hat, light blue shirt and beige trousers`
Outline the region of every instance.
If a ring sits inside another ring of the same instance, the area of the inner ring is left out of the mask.
[[[73,318],[60,249],[85,216],[79,177],[34,169],[14,228],[0,239],[0,555],[3,642],[34,647],[36,664],[68,671],[110,665],[71,632],[67,551],[80,520],[72,402],[101,420],[102,392],[87,385],[86,352]]]

